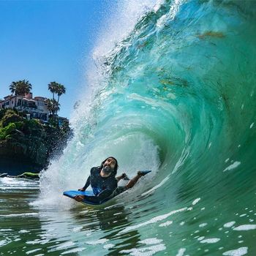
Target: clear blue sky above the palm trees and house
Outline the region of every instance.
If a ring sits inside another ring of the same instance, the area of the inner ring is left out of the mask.
[[[34,96],[51,97],[48,83],[56,81],[67,88],[59,115],[69,118],[109,6],[107,0],[0,1],[0,99],[23,79]]]

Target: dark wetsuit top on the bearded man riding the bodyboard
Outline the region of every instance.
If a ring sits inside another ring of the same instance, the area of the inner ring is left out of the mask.
[[[110,197],[117,187],[117,180],[112,174],[106,178],[100,176],[100,167],[92,167],[91,174],[87,178],[83,189],[86,190],[90,185],[95,197],[89,200],[100,202]]]

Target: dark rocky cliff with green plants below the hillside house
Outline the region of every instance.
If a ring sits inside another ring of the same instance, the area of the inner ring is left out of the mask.
[[[0,118],[0,173],[42,170],[50,158],[61,154],[71,134],[68,124],[61,128],[42,125],[13,110],[4,111]]]

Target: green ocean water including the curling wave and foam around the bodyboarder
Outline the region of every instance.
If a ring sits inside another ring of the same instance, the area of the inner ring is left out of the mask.
[[[0,180],[0,255],[256,255],[256,1],[132,3],[64,155],[38,184]],[[62,196],[111,155],[153,171],[107,206]]]

